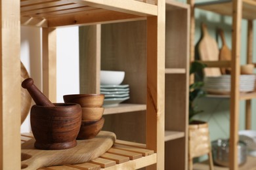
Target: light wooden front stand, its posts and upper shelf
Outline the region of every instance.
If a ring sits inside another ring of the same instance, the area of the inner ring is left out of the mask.
[[[153,161],[154,165],[151,165],[150,169],[163,169],[164,11],[165,1],[162,0],[1,1],[0,169],[20,169],[20,78],[18,78],[20,77],[20,24],[43,27],[43,93],[51,101],[56,101],[56,27],[142,19],[147,21],[148,47],[146,148],[157,153]],[[94,71],[91,73],[98,74]],[[152,163],[152,161],[150,164],[145,162],[147,161],[137,160],[136,167],[145,167]]]

